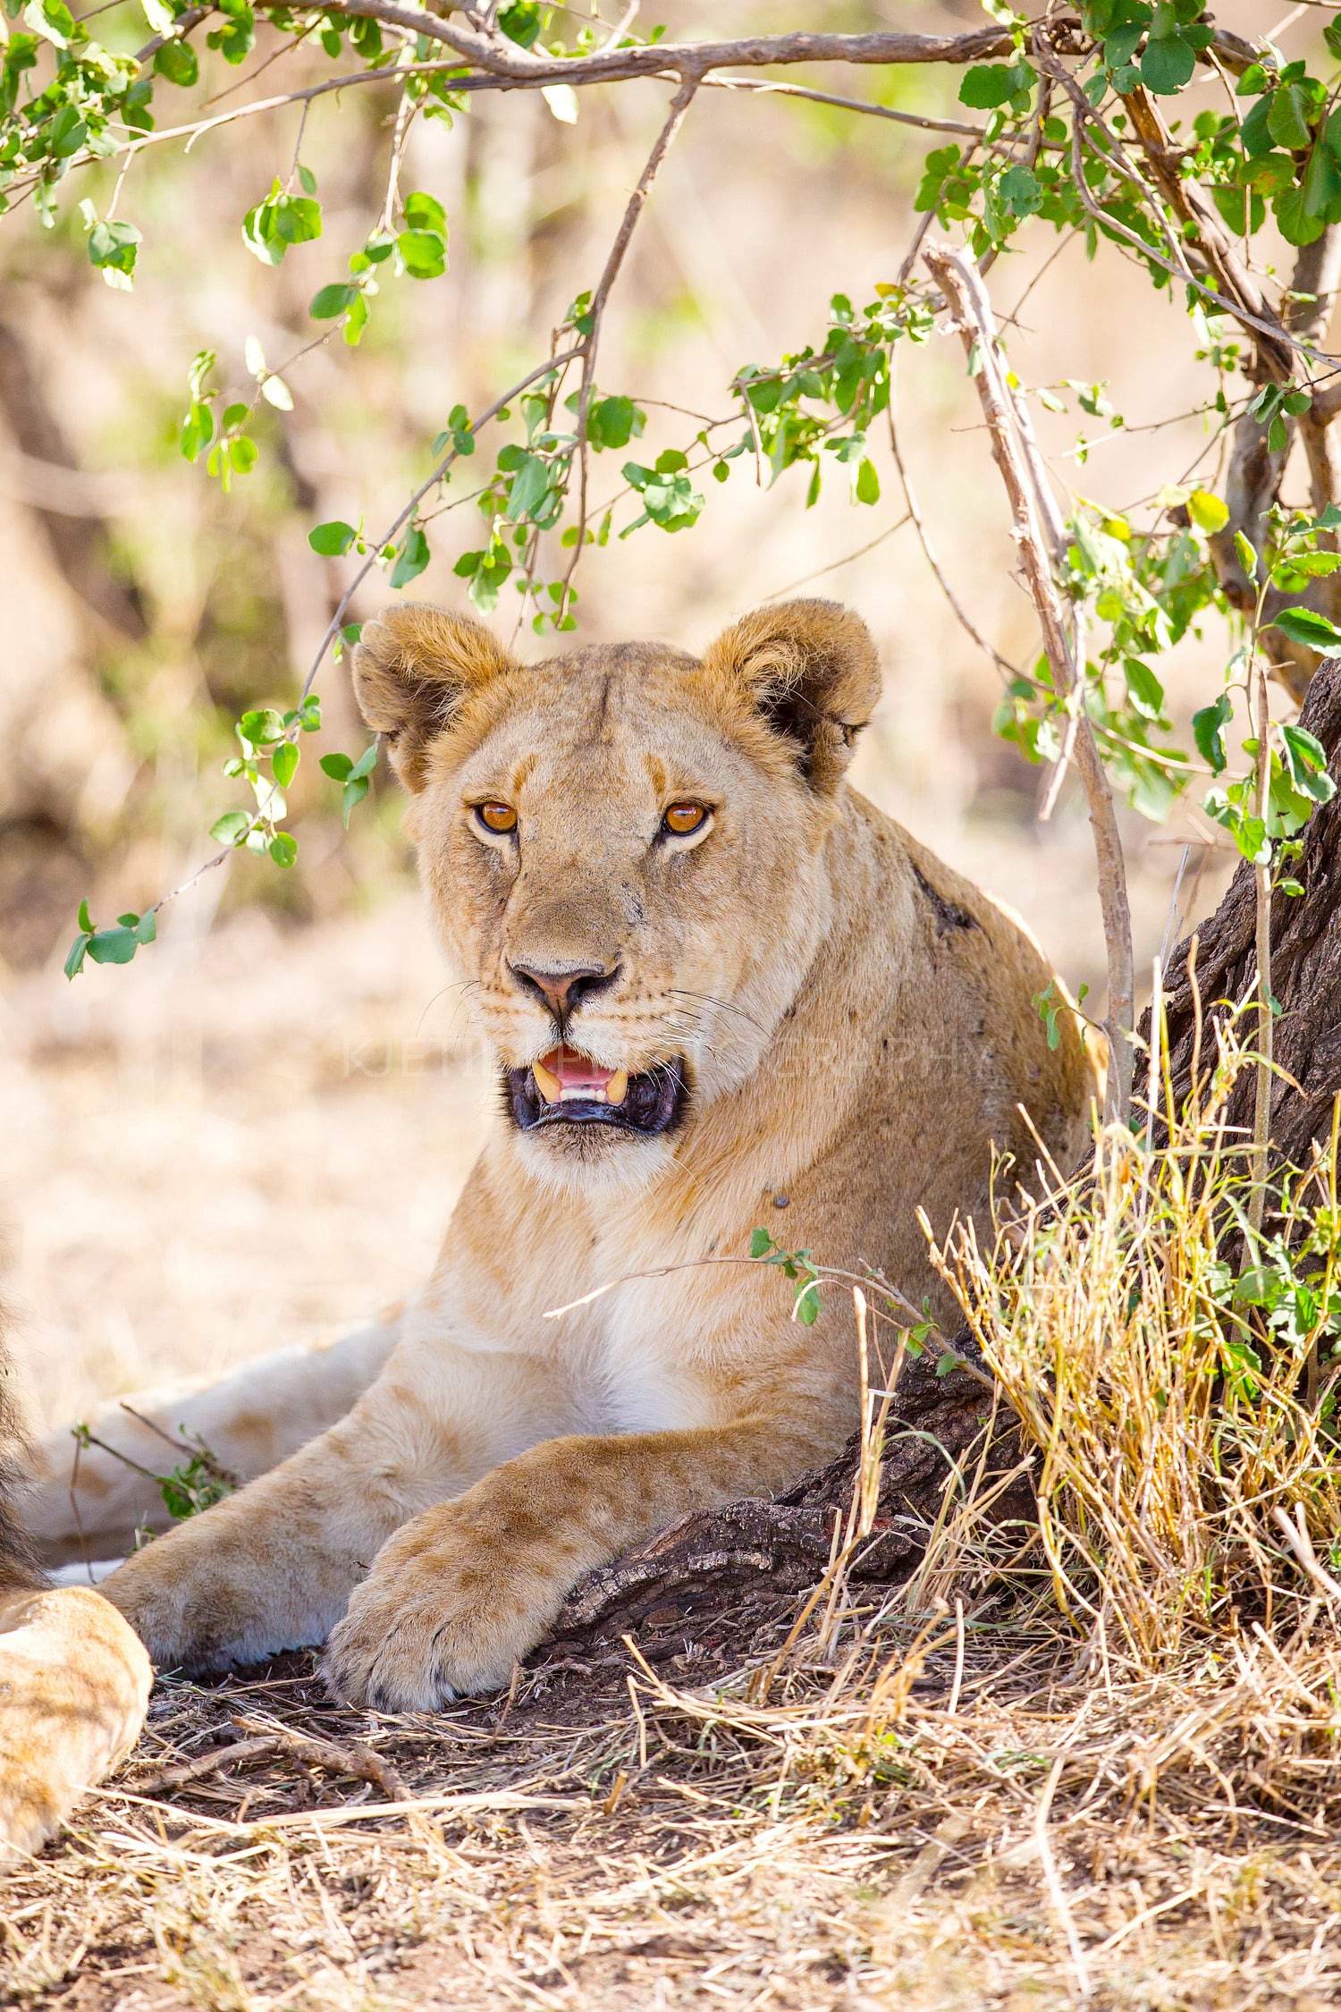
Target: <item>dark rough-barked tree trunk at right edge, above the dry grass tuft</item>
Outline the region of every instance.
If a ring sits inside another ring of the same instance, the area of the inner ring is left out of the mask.
[[[1341,658],[1327,658],[1311,686],[1301,726],[1327,748],[1327,767],[1341,769]],[[1279,1074],[1273,1091],[1271,1153],[1277,1163],[1307,1165],[1313,1141],[1331,1135],[1333,1103],[1341,1093],[1341,797],[1313,813],[1303,831],[1303,857],[1291,867],[1301,895],[1277,889],[1271,897],[1271,978],[1281,1002],[1275,1026]],[[1251,996],[1257,974],[1257,897],[1253,867],[1244,859],[1214,915],[1196,938],[1196,990],[1204,1014],[1198,1078],[1214,1064],[1214,1026],[1230,1004]],[[1168,964],[1166,1024],[1174,1103],[1192,1091],[1196,1010],[1186,938]],[[1142,1020],[1150,1034],[1150,1014]],[[1251,1024],[1244,1026],[1251,1042]],[[1255,1076],[1244,1070],[1230,1103],[1228,1123],[1253,1129]]]

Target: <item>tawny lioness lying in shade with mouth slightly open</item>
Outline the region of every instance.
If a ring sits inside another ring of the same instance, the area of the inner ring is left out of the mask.
[[[328,1640],[342,1698],[424,1710],[505,1684],[589,1567],[852,1431],[850,1310],[794,1322],[758,1223],[935,1298],[917,1205],[985,1209],[993,1147],[1035,1159],[1021,1107],[1064,1157],[1090,1078],[1025,932],[846,787],[854,614],[521,664],[396,608],[354,682],[501,1111],[348,1414],[105,1591],[161,1666]]]

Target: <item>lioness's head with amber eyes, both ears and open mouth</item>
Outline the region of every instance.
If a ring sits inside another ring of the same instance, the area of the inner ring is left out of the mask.
[[[702,660],[633,642],[521,664],[406,606],[364,628],[354,684],[527,1161],[645,1179],[760,1066],[824,934],[824,845],[879,694],[865,624],[790,602]]]

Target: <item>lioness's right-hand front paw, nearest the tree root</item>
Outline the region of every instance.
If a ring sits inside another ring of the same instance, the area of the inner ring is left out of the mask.
[[[430,1509],[384,1549],[326,1650],[326,1682],[346,1704],[432,1712],[499,1690],[535,1648],[565,1585],[501,1559],[452,1505]]]

